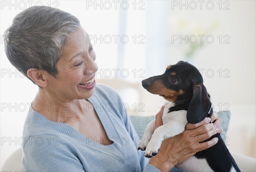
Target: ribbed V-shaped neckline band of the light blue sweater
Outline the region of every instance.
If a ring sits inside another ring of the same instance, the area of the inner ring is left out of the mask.
[[[101,150],[102,152],[106,152],[124,159],[125,150],[122,147],[121,138],[118,135],[117,131],[115,130],[115,127],[113,125],[113,122],[111,121],[111,118],[108,112],[106,112],[106,110],[104,109],[104,106],[102,106],[102,103],[99,102],[99,99],[96,97],[95,94],[93,94],[93,96],[91,96],[88,100],[93,105],[107,133],[108,138],[111,141],[113,141],[113,144],[110,144],[110,145],[99,144],[89,139],[88,137],[82,135],[81,133],[79,133],[79,131],[77,131],[76,129],[74,129],[68,124],[65,124],[62,122],[50,121],[49,119],[45,118],[42,114],[33,110],[32,104],[31,104],[32,118],[29,118],[27,122],[31,122],[32,124],[39,124],[44,127],[51,128],[53,130],[56,130],[59,133],[68,135],[71,138],[74,138],[77,141],[84,143],[86,146],[92,147],[97,150]]]

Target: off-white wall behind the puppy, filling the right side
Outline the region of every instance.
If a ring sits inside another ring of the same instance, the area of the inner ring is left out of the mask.
[[[227,132],[227,136],[230,138],[228,148],[231,151],[255,157],[255,1],[221,1],[221,10],[218,4],[220,1],[212,1],[216,7],[212,10],[205,6],[209,1],[204,2],[202,10],[199,9],[199,4],[195,10],[191,9],[194,8],[193,4],[187,10],[184,6],[180,6],[180,3],[177,7],[172,6],[173,10],[169,11],[171,16],[170,32],[171,35],[203,34],[205,37],[212,35],[215,38],[213,43],[205,42],[198,51],[195,51],[193,59],[189,61],[202,69],[204,85],[212,96],[215,110],[226,109],[231,112],[230,126]],[[183,4],[185,4],[184,1]],[[224,7],[229,9],[224,10]],[[178,30],[174,27],[177,19],[181,20],[180,25],[185,25],[183,29]],[[215,27],[210,30],[212,24]],[[222,35],[221,43],[219,35]],[[224,35],[227,36],[224,38]],[[227,38],[230,43],[224,44],[224,40]],[[184,49],[186,50],[184,44],[170,44],[169,61],[173,63],[182,59],[182,50],[184,51]],[[222,72],[221,76],[220,71]]]

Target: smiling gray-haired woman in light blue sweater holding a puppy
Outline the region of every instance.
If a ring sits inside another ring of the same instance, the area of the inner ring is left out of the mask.
[[[205,118],[164,140],[150,161],[143,157],[122,100],[111,88],[96,85],[96,55],[87,32],[67,12],[47,6],[26,9],[15,17],[6,38],[9,61],[38,85],[23,130],[26,171],[179,171],[176,164],[218,141],[199,143],[221,133],[219,118],[215,125]],[[163,108],[156,126],[162,114]],[[213,113],[212,121],[216,117]],[[190,138],[197,142],[191,144]]]

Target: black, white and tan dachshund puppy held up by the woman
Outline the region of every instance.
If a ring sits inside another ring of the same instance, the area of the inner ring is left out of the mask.
[[[188,122],[198,123],[205,117],[210,117],[213,112],[203,77],[199,70],[188,62],[180,61],[169,65],[165,73],[143,80],[142,85],[148,92],[158,94],[168,101],[164,104],[163,125],[153,133],[155,121],[151,121],[145,129],[138,147],[145,150],[145,157],[157,155],[162,141],[182,133]],[[217,144],[197,152],[176,167],[183,171],[240,172],[219,134],[206,141],[215,137],[218,137]]]

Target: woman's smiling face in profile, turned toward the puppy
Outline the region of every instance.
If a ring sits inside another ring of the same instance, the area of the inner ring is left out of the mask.
[[[96,54],[83,28],[70,35],[56,66],[57,78],[49,77],[47,88],[57,99],[87,99],[95,91]]]

